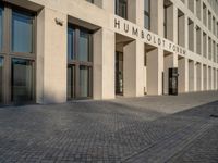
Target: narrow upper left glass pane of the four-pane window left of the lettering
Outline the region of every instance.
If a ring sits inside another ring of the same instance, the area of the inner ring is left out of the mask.
[[[68,28],[68,58],[70,60],[75,59],[74,43],[75,43],[75,30],[69,27]]]

